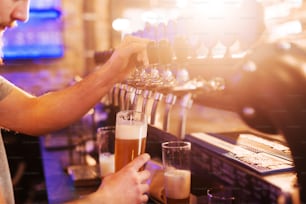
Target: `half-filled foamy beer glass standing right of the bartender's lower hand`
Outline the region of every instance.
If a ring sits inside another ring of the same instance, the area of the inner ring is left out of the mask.
[[[162,143],[164,187],[167,204],[189,204],[191,143],[170,141]]]

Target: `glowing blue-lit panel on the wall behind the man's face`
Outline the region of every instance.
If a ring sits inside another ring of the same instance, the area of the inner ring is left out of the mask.
[[[64,55],[60,0],[32,0],[26,23],[3,35],[3,59],[60,58]]]

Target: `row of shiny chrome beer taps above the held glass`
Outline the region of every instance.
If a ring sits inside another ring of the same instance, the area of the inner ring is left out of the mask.
[[[177,39],[173,45],[167,40],[150,42],[147,47],[149,65],[139,65],[124,82],[115,84],[108,95],[108,103],[118,110],[146,112],[150,125],[167,132],[170,131],[171,110],[176,105],[179,113],[175,134],[183,139],[187,112],[195,93],[224,89],[220,79],[190,79],[187,46],[183,39]]]

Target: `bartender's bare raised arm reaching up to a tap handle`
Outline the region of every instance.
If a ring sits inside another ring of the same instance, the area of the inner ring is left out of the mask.
[[[144,55],[147,42],[126,37],[105,64],[60,91],[35,97],[9,82],[4,83],[0,86],[0,92],[6,93],[0,98],[0,127],[41,135],[73,123],[133,70],[136,58]]]

